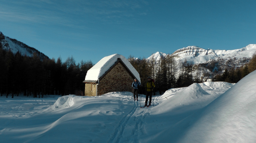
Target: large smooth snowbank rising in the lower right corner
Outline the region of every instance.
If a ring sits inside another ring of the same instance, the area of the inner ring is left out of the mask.
[[[179,142],[255,142],[256,71],[173,128],[183,129]],[[169,129],[170,130],[170,129]],[[171,129],[172,130],[172,129]]]

